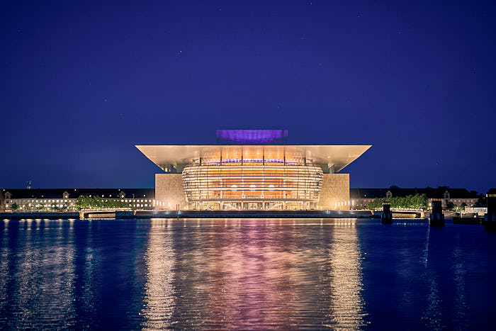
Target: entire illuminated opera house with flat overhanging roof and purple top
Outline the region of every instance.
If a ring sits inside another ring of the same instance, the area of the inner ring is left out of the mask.
[[[288,145],[287,130],[217,130],[217,145],[136,145],[155,209],[349,209],[349,174],[371,145]],[[347,203],[346,203],[347,201]]]

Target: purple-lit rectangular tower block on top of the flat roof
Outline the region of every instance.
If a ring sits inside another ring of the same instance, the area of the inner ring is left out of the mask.
[[[222,145],[286,145],[288,130],[217,130],[217,143]]]

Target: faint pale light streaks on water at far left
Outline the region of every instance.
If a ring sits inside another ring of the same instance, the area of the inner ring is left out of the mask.
[[[8,305],[1,314],[6,327],[74,326],[72,235],[70,222],[9,222],[2,236],[6,262],[0,270],[0,278],[9,283]],[[21,320],[17,320],[18,315]]]

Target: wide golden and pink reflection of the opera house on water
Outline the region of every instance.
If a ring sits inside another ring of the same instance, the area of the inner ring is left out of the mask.
[[[152,220],[146,328],[365,325],[354,222]]]

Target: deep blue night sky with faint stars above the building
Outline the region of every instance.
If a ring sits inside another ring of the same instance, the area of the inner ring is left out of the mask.
[[[78,2],[1,2],[0,186],[152,187],[135,144],[218,128],[372,144],[352,187],[496,186],[494,1]]]

